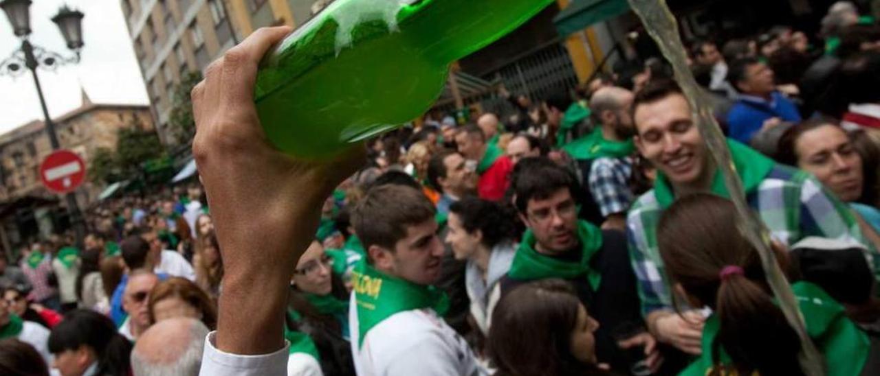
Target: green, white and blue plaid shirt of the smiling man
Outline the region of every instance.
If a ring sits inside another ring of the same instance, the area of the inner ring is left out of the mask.
[[[870,244],[862,236],[849,207],[801,170],[774,166],[758,188],[746,195],[746,200],[759,213],[774,240],[786,245],[807,236],[848,238]],[[657,248],[656,226],[662,213],[654,190],[650,190],[636,200],[627,215],[627,241],[645,316],[672,307],[669,281]],[[876,278],[880,257],[873,257],[876,250],[868,247],[871,251],[865,257]]]

